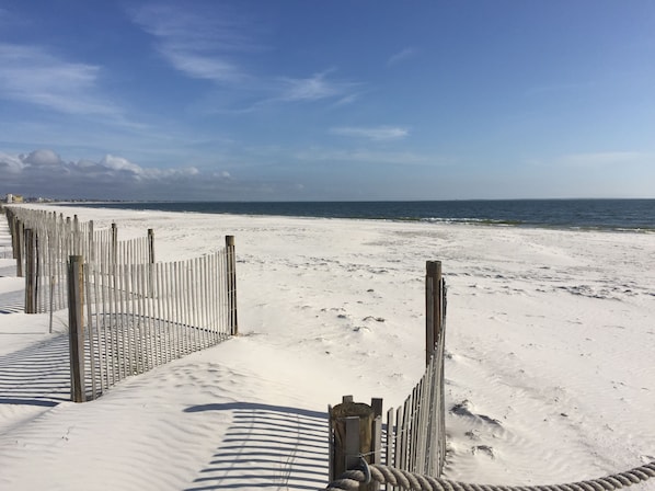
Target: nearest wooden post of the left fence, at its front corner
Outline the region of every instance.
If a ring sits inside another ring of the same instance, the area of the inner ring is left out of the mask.
[[[83,258],[71,255],[68,263],[68,338],[70,346],[70,398],[84,402],[84,276]]]

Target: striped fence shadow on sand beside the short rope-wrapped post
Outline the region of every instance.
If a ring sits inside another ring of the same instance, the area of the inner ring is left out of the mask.
[[[206,468],[184,491],[315,490],[328,479],[328,413],[232,402],[185,412],[229,411],[232,423]]]

